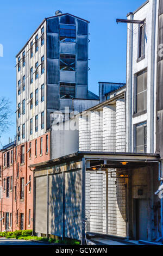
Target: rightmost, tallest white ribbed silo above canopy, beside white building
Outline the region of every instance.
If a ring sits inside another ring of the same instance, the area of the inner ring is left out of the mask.
[[[124,99],[116,101],[116,151],[126,151],[126,115]]]

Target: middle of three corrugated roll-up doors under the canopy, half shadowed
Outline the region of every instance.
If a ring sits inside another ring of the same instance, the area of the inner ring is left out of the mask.
[[[48,230],[49,234],[58,235],[60,237],[63,232],[62,193],[62,173],[49,175]]]

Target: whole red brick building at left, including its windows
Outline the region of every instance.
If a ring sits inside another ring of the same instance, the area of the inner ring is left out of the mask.
[[[33,228],[33,172],[29,165],[50,159],[50,132],[0,152],[0,231]]]

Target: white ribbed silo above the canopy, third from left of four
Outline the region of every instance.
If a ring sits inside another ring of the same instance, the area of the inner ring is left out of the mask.
[[[103,108],[103,151],[116,151],[116,107]]]

